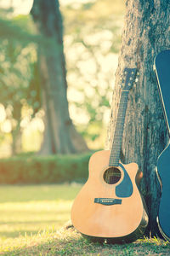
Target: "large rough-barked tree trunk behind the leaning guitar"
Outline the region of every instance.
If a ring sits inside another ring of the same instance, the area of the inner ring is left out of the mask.
[[[129,93],[122,139],[122,162],[136,162],[144,177],[140,189],[150,217],[146,235],[159,234],[156,216],[161,189],[156,177],[156,160],[167,144],[167,130],[153,71],[154,58],[170,45],[169,0],[127,0],[127,14],[122,32],[122,49],[116,71],[111,106],[111,137],[116,123],[122,71],[138,67],[139,82]]]

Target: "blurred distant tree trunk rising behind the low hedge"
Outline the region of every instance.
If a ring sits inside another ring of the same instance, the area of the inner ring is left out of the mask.
[[[72,124],[66,96],[63,26],[58,0],[34,0],[31,15],[42,34],[38,63],[45,131],[40,154],[69,154],[88,147]]]

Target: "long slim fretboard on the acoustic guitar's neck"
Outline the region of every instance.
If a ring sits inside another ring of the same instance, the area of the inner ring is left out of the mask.
[[[124,129],[125,116],[127,111],[127,100],[129,90],[122,90],[119,109],[116,119],[116,128],[111,147],[109,166],[118,166],[122,148],[122,134]]]

